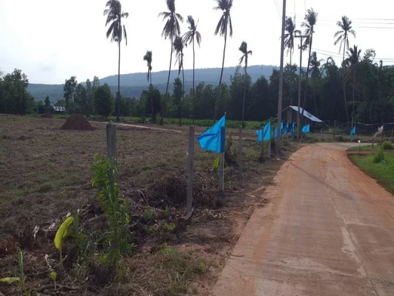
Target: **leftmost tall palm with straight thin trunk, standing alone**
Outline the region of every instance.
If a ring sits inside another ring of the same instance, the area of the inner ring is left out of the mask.
[[[105,26],[110,24],[107,30],[107,38],[111,36],[111,42],[117,42],[117,47],[119,48],[119,62],[117,65],[117,119],[119,120],[121,106],[120,106],[120,96],[121,96],[121,42],[124,38],[127,45],[127,33],[125,25],[122,25],[122,18],[127,18],[129,14],[122,11],[122,5],[118,0],[109,0],[105,5],[104,15],[107,15],[107,21]]]

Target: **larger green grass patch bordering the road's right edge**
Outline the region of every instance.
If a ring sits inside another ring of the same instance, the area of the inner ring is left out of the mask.
[[[394,155],[385,153],[385,161],[375,163],[374,154],[349,155],[350,159],[366,174],[377,179],[384,188],[394,193]]]

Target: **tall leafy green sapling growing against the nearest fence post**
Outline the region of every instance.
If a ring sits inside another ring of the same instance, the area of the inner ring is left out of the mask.
[[[119,262],[120,254],[131,251],[129,214],[127,200],[120,197],[120,190],[115,182],[116,167],[113,159],[105,159],[96,154],[91,166],[93,171],[92,186],[99,190],[97,199],[109,222],[107,237],[111,250],[108,261],[114,267]]]

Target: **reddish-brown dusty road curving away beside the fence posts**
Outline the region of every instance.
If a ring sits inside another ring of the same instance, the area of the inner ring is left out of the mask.
[[[213,295],[394,295],[394,197],[346,148],[313,144],[292,155]]]

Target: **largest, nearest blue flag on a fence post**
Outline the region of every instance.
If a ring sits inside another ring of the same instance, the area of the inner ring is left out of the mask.
[[[224,152],[226,115],[216,122],[211,128],[197,137],[202,149],[214,152]]]

